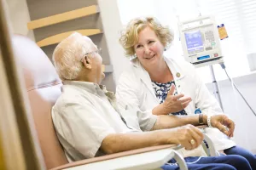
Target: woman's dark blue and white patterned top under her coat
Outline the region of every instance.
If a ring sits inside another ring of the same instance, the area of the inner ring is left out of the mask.
[[[172,87],[172,84],[175,86],[175,82],[166,82],[166,83],[160,83],[160,82],[154,82],[152,81],[152,86],[154,88],[154,94],[156,98],[158,99],[159,103],[162,104],[166,100],[166,96]],[[177,95],[177,90],[175,88],[174,95]],[[185,110],[178,111],[175,113],[171,113],[172,115],[188,115]]]

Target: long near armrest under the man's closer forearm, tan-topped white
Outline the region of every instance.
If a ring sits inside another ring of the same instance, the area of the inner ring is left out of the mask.
[[[165,144],[143,149],[129,150],[107,156],[74,161],[60,167],[55,167],[51,170],[82,168],[99,169],[100,167],[100,169],[154,169],[161,167],[166,161],[172,159],[176,154],[176,152],[173,151],[173,148],[176,147],[176,144]]]

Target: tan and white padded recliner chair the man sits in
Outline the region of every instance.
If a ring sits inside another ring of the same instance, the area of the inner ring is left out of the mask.
[[[188,169],[183,157],[176,150],[181,145],[166,144],[139,150],[130,150],[108,156],[100,156],[83,161],[68,163],[64,150],[57,139],[51,119],[51,107],[61,95],[61,80],[55,67],[43,50],[27,37],[12,37],[15,57],[23,70],[26,91],[29,97],[32,116],[38,134],[38,141],[47,169],[160,169],[167,161],[176,159],[179,167]],[[217,156],[212,141],[205,135],[210,150],[208,156]],[[76,169],[76,168],[75,168]]]

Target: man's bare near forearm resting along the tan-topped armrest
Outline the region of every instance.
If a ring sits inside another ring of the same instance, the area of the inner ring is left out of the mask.
[[[167,138],[167,136],[173,137]],[[177,139],[175,138],[175,135],[172,135],[172,130],[158,130],[146,133],[110,134],[103,139],[101,149],[106,154],[113,154],[160,144],[177,144]]]

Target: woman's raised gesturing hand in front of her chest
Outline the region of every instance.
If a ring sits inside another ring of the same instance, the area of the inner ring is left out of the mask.
[[[182,111],[189,105],[192,100],[190,97],[184,97],[184,94],[173,95],[175,86],[172,84],[170,91],[166,96],[165,102],[162,104],[163,109],[166,113],[175,113],[177,111]]]

